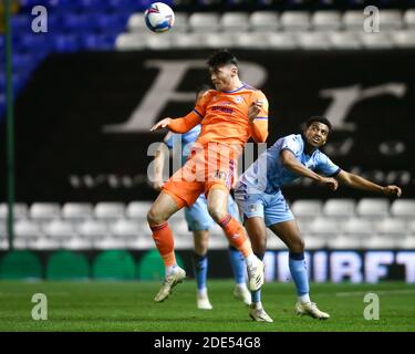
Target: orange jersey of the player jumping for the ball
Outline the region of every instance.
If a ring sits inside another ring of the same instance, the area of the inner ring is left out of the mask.
[[[201,132],[196,142],[236,144],[242,148],[252,134],[248,108],[257,100],[263,103],[257,119],[268,119],[268,100],[260,90],[243,84],[231,92],[207,91],[194,111],[201,118]]]

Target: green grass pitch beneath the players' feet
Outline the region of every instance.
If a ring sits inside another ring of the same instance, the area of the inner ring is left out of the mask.
[[[153,302],[157,282],[0,281],[0,331],[146,331],[146,332],[314,332],[415,331],[415,285],[311,284],[312,300],[331,314],[328,321],[293,313],[292,283],[266,283],[262,303],[274,323],[257,323],[232,298],[230,280],[210,280],[214,310],[196,309],[194,280],[177,285],[164,302]],[[380,298],[380,320],[363,316],[367,292]],[[48,321],[32,320],[34,293],[48,296]]]

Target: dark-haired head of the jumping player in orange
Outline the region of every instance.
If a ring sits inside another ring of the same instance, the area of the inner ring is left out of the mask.
[[[210,55],[207,61],[210,80],[216,90],[227,91],[232,87],[235,79],[238,77],[238,60],[228,50],[220,50]]]

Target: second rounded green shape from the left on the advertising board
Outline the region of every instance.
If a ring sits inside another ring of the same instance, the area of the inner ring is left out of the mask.
[[[54,252],[46,266],[48,280],[89,280],[90,266],[85,256],[71,251]]]

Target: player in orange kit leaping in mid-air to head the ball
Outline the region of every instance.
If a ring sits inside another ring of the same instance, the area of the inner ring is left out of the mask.
[[[267,139],[268,101],[261,91],[240,81],[238,61],[227,50],[214,53],[207,64],[216,90],[206,92],[186,116],[164,118],[151,129],[186,133],[201,124],[200,135],[186,164],[163,186],[147,214],[153,239],[166,269],[162,289],[154,299],[156,302],[164,301],[186,278],[185,270],[176,263],[174,238],[167,220],[183,207],[191,206],[203,192],[207,196],[209,215],[246,259],[250,290],[258,290],[263,283],[263,263],[253,254],[241,223],[228,214],[227,200],[245,143],[250,137],[257,143]]]

